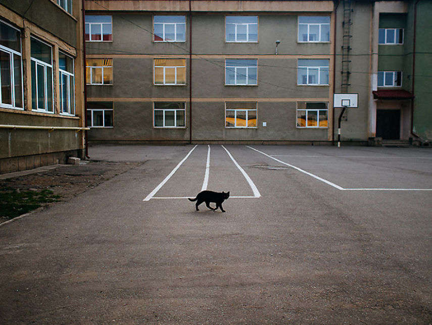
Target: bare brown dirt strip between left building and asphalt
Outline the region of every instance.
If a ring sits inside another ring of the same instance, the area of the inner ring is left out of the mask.
[[[57,202],[46,203],[40,207],[43,209],[58,202],[66,202],[141,164],[137,162],[81,161],[80,165],[65,165],[49,171],[0,180],[0,188],[10,187],[23,191],[49,189],[53,191],[53,195],[61,196]],[[7,217],[0,216],[0,224],[8,220]]]

